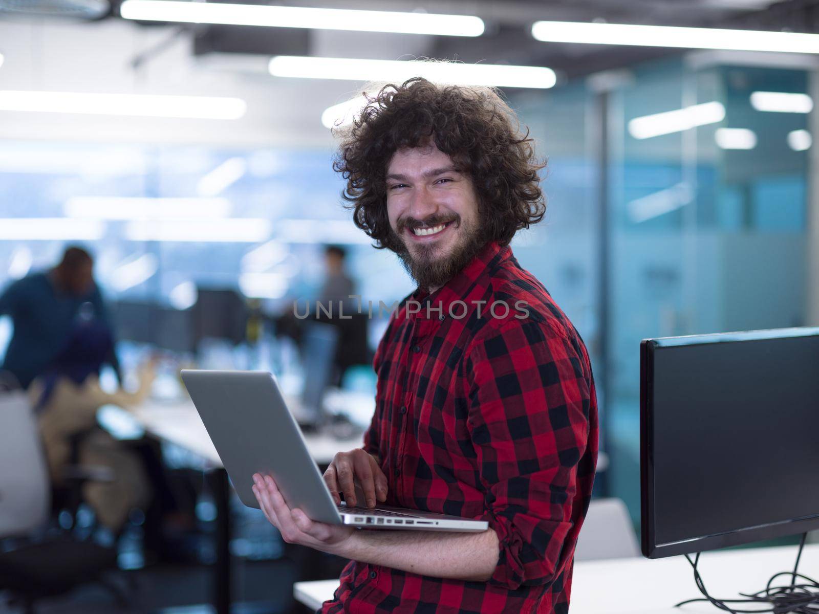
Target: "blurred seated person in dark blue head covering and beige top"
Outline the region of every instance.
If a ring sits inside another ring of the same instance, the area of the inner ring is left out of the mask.
[[[116,534],[132,508],[147,506],[151,485],[140,454],[97,426],[97,409],[106,404],[128,407],[142,403],[150,392],[154,369],[150,363],[143,366],[138,390],[133,393],[103,391],[99,373],[112,350],[106,323],[93,319],[77,323],[57,355],[32,381],[29,400],[38,416],[56,489],[65,486],[68,465],[111,471],[111,480],[85,482],[82,494],[97,520]]]

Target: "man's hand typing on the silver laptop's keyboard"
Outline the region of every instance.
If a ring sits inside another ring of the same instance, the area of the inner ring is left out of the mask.
[[[387,476],[378,466],[378,460],[361,448],[336,454],[324,472],[324,481],[337,505],[342,502],[340,493],[344,493],[347,505],[364,503],[374,508],[376,499],[381,503],[387,500]],[[355,497],[356,483],[364,492],[364,501],[360,503]]]

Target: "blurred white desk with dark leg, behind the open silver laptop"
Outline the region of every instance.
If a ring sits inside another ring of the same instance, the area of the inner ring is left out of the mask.
[[[160,440],[187,449],[210,464],[208,481],[216,505],[216,562],[214,567],[214,606],[216,614],[231,611],[230,567],[230,481],[219,454],[210,441],[205,425],[190,399],[147,400],[133,406],[127,413],[143,429]],[[350,439],[336,439],[323,434],[305,434],[310,455],[319,465],[327,465],[337,452],[360,447],[362,435]]]

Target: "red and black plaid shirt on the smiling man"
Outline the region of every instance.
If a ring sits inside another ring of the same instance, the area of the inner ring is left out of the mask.
[[[586,346],[549,293],[489,243],[402,301],[373,366],[364,449],[381,459],[387,505],[489,521],[500,558],[487,582],[353,561],[322,612],[568,612],[597,404]]]

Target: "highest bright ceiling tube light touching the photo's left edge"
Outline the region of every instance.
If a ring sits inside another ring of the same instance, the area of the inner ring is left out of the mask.
[[[247,104],[240,98],[7,89],[0,90],[0,111],[238,120],[247,111]]]

